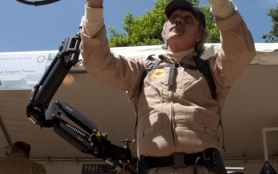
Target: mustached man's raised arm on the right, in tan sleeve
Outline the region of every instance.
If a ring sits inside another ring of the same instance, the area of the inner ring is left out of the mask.
[[[221,49],[216,59],[209,59],[222,109],[233,82],[254,59],[256,51],[251,32],[247,28],[237,7],[231,0],[207,0],[211,5],[215,23],[220,30]],[[225,90],[226,89],[226,90]]]

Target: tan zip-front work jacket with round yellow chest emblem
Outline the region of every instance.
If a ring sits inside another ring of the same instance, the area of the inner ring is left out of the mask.
[[[215,18],[221,32],[221,50],[209,59],[218,101],[198,70],[175,68],[174,83],[167,85],[170,67],[152,70],[141,76],[148,61],[114,55],[110,51],[105,26],[90,38],[82,33],[80,45],[83,64],[94,78],[127,91],[138,115],[138,156],[168,156],[172,153],[196,153],[206,148],[221,151],[218,106],[223,108],[230,86],[255,56],[254,41],[240,13],[225,20]],[[159,55],[161,64],[172,63]],[[194,56],[181,62],[195,65]]]

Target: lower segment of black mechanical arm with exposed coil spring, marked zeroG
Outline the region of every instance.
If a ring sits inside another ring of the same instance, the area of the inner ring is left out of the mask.
[[[61,114],[67,116],[85,131],[62,119]],[[45,122],[53,127],[54,132],[81,152],[92,154],[118,168],[122,168],[123,164],[131,165],[134,162],[128,146],[119,147],[111,144],[107,140],[107,133],[101,134],[95,123],[69,104],[59,101],[51,103],[45,112],[45,117]],[[130,142],[129,140],[124,141]]]

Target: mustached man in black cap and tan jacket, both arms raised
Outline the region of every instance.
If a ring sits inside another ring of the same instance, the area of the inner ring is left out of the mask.
[[[139,173],[227,173],[218,133],[230,86],[255,56],[254,41],[230,0],[208,0],[221,33],[221,49],[208,59],[216,95],[196,66],[208,32],[204,14],[186,0],[165,9],[165,51],[140,82],[148,60],[110,51],[102,0],[87,0],[80,51],[94,78],[127,91],[138,117]],[[149,68],[149,67],[148,67]],[[152,69],[153,68],[153,69]]]

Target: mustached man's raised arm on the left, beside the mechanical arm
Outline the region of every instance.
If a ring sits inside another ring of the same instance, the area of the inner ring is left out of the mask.
[[[80,53],[93,78],[123,91],[137,92],[146,62],[110,51],[104,25],[103,0],[87,0],[81,32]]]

